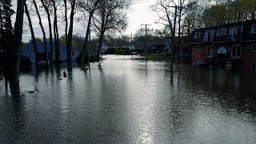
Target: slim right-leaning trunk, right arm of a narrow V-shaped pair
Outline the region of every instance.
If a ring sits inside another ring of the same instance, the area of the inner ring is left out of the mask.
[[[72,49],[72,37],[73,37],[73,23],[74,23],[74,8],[75,8],[75,0],[71,2],[71,12],[70,12],[70,29],[67,34],[66,40],[66,58],[67,62],[72,62],[71,58],[71,49]]]

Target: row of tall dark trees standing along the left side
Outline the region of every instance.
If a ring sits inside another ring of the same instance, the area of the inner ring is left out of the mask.
[[[87,44],[90,30],[98,34],[98,57],[102,38],[107,31],[124,30],[127,26],[126,10],[130,0],[18,0],[17,10],[11,10],[11,0],[0,0],[1,17],[1,50],[6,57],[6,74],[9,74],[10,86],[19,85],[19,59],[22,46],[22,28],[24,13],[30,27],[31,42],[34,52],[37,52],[37,39],[34,34],[33,18],[38,18],[42,30],[42,38],[47,52],[46,39],[50,42],[50,63],[53,59],[55,47],[56,63],[59,62],[59,30],[65,26],[67,62],[71,62],[71,47],[73,42],[74,22],[86,23],[86,38],[84,39],[83,52],[86,58]],[[63,7],[63,8],[62,8]],[[14,28],[10,20],[16,14]],[[48,28],[43,26],[47,19]],[[48,31],[47,31],[48,30]],[[46,35],[48,32],[49,35]],[[88,57],[88,56],[87,56]],[[36,60],[36,63],[38,61]]]

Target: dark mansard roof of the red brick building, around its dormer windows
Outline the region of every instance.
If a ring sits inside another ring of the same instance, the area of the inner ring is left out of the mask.
[[[251,28],[254,24],[256,24],[255,19],[249,20],[249,21],[244,21],[244,22],[226,23],[224,25],[219,25],[219,26],[210,26],[210,27],[205,27],[202,29],[195,29],[193,31],[193,33],[191,34],[190,44],[201,43],[206,30],[215,30],[214,38],[213,38],[212,42],[220,42],[223,40],[223,37],[216,36],[218,29],[226,28],[227,29],[226,35],[228,35],[231,27],[238,27],[238,26],[242,26],[241,37],[239,39],[240,41],[256,40],[256,34],[250,34]],[[196,32],[200,33],[200,38],[194,38],[194,35]],[[239,34],[239,36],[240,36],[240,34]]]

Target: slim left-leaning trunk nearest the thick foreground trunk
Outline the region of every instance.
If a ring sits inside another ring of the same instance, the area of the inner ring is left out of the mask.
[[[27,9],[26,6],[26,2],[25,2],[25,12],[26,12],[26,17],[29,21],[29,26],[30,26],[30,32],[31,32],[31,38],[32,38],[32,43],[34,46],[34,61],[35,61],[35,66],[38,65],[38,47],[37,47],[37,43],[35,42],[35,38],[34,38],[34,30],[33,30],[33,26],[32,26],[32,22],[31,22],[31,18],[30,18],[30,13],[29,10]]]

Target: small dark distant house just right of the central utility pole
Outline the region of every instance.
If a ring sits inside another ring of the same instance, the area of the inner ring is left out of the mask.
[[[170,53],[170,40],[158,39],[151,43],[151,50],[153,53]]]

